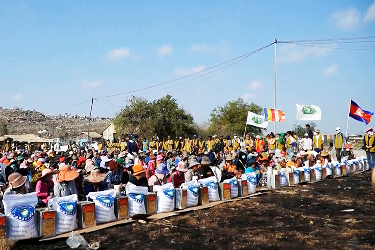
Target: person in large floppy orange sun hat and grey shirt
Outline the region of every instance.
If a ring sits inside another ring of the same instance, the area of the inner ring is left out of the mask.
[[[60,173],[53,187],[54,197],[63,197],[67,195],[78,195],[77,187],[75,186],[74,179],[78,177],[78,172],[72,170],[68,165],[63,164],[60,166]]]

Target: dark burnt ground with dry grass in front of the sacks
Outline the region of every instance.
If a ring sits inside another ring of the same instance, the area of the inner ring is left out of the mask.
[[[370,173],[331,179],[160,220],[84,234],[100,249],[375,249]],[[353,212],[341,212],[345,209]],[[31,245],[30,245],[31,244]],[[64,240],[15,249],[68,249]]]

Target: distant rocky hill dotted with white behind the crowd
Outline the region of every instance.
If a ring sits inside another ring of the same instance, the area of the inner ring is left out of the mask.
[[[108,117],[92,117],[90,131],[102,133],[110,123]],[[43,112],[23,110],[22,108],[4,109],[0,107],[0,134],[33,133],[44,138],[76,136],[87,132],[89,117],[71,114],[45,115]]]

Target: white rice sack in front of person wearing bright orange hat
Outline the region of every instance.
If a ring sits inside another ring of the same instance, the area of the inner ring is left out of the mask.
[[[144,195],[147,193],[147,187],[138,187],[130,182],[126,184],[126,195],[128,197],[130,217],[134,214],[146,214],[146,207],[144,205]]]

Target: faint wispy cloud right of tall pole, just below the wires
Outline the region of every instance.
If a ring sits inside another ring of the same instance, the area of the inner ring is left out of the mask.
[[[336,47],[335,44],[330,47]],[[281,46],[279,49],[280,55],[277,56],[279,63],[293,63],[302,61],[308,57],[322,57],[329,52],[328,48],[318,48],[309,46],[297,46],[295,44],[288,44]]]

